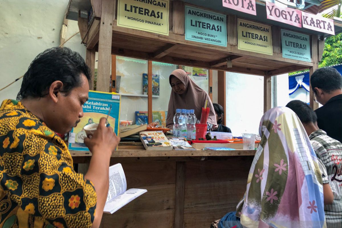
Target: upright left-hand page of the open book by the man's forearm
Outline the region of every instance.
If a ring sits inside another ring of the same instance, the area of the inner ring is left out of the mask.
[[[109,167],[109,189],[107,202],[127,190],[126,176],[120,163]]]

